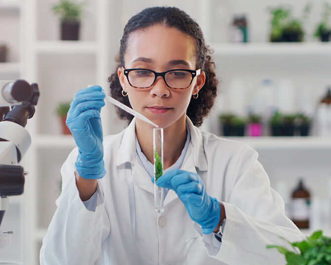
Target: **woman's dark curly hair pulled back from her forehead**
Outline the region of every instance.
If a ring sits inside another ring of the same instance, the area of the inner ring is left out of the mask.
[[[212,51],[205,44],[205,39],[198,23],[177,7],[149,7],[131,17],[127,22],[121,40],[120,53],[116,57],[118,65],[113,74],[108,78],[111,96],[131,107],[128,97],[122,95],[122,87],[117,69],[124,66],[124,54],[129,34],[155,24],[176,28],[191,36],[195,41],[197,58],[196,69],[201,68],[201,70],[205,71],[206,82],[203,89],[199,91],[199,97],[197,99],[191,99],[186,114],[191,119],[192,123],[199,127],[213,106],[217,95],[218,80],[216,79],[214,71],[215,63],[211,59],[210,53],[212,53]],[[116,109],[121,119],[127,120],[128,122],[132,120],[133,116],[131,114],[128,114],[120,108]]]

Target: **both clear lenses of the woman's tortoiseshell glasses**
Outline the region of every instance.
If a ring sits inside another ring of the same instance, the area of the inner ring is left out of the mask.
[[[155,74],[149,70],[132,70],[128,80],[133,87],[147,88],[153,85]],[[191,84],[192,74],[186,71],[170,71],[165,74],[165,82],[171,88],[186,88]]]

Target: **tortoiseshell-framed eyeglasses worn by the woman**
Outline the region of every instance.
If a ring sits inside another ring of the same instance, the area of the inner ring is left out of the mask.
[[[124,69],[124,75],[133,88],[150,88],[158,76],[165,81],[166,86],[175,89],[188,88],[193,78],[200,75],[201,69],[173,69],[165,72],[155,72],[144,68]]]

